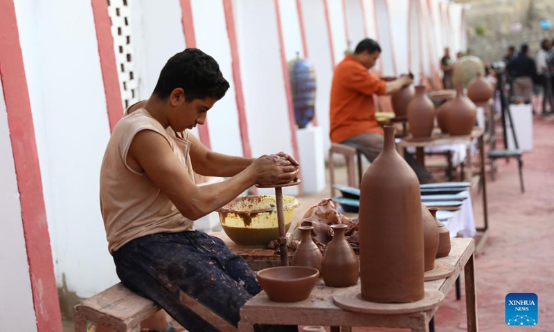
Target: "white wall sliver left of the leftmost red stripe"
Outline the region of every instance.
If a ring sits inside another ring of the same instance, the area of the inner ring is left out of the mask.
[[[0,265],[3,266],[0,329],[33,332],[37,331],[37,323],[11,144],[8,113],[0,81]]]

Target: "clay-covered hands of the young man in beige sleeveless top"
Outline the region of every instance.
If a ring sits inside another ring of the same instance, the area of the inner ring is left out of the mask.
[[[294,181],[298,176],[298,162],[283,152],[264,155],[253,161],[258,185],[279,185]]]

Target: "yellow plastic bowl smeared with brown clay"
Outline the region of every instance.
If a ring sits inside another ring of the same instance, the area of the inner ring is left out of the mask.
[[[285,230],[289,230],[298,205],[295,197],[283,195]],[[265,246],[279,237],[274,195],[238,197],[217,212],[225,234],[240,246]]]

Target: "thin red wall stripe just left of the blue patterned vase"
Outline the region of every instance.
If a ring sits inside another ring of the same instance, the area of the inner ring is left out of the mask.
[[[277,33],[279,35],[279,51],[281,57],[281,67],[283,68],[283,80],[285,81],[285,92],[287,93],[287,108],[289,109],[289,127],[292,140],[292,153],[298,163],[301,163],[300,154],[298,154],[298,138],[296,137],[296,120],[294,117],[294,107],[292,105],[292,90],[290,88],[289,67],[285,57],[285,42],[283,39],[283,27],[281,26],[281,14],[279,9],[279,0],[273,0],[275,14],[277,19]],[[298,178],[302,178],[302,171],[298,173]],[[302,184],[301,184],[302,185]]]

